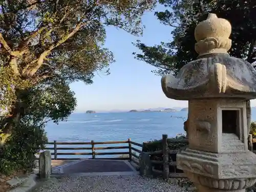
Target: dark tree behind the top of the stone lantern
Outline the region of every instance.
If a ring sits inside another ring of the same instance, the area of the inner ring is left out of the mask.
[[[177,74],[186,63],[197,58],[194,30],[208,13],[216,13],[231,23],[232,47],[229,54],[250,63],[256,61],[255,1],[159,0],[159,3],[167,9],[155,15],[163,25],[173,29],[173,40],[155,46],[146,46],[140,41],[134,43],[142,52],[134,53],[135,58],[155,66],[157,75]]]

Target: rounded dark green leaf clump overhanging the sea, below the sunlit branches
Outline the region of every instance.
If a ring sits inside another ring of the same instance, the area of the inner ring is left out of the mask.
[[[65,81],[50,81],[28,90],[23,118],[43,125],[49,120],[65,120],[76,107],[75,93]]]

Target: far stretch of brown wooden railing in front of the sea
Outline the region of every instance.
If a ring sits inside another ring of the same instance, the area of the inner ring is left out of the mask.
[[[112,159],[112,160],[131,160],[134,161],[136,164],[138,164],[138,158],[139,156],[134,153],[138,152],[141,153],[140,150],[137,148],[134,148],[132,145],[137,145],[142,147],[142,144],[136,143],[131,141],[131,139],[125,140],[125,141],[104,141],[104,142],[57,142],[54,140],[54,142],[48,142],[47,145],[53,145],[53,147],[45,147],[42,150],[51,150],[53,153],[51,153],[52,156],[54,156],[53,160],[79,160],[83,158],[59,158],[59,156],[63,155],[90,155],[91,158],[88,159]],[[123,144],[123,146],[104,146],[104,147],[97,147],[97,145],[105,145],[105,144]],[[126,144],[126,146],[125,146]],[[90,145],[88,147],[58,147],[58,145]],[[117,149],[127,149],[123,152],[98,152],[99,150],[117,150]],[[59,153],[59,150],[79,150],[84,151],[82,153]],[[89,152],[90,151],[90,152]],[[119,155],[121,157],[108,157],[108,158],[96,158],[96,156],[99,155]],[[125,157],[126,156],[126,157]]]

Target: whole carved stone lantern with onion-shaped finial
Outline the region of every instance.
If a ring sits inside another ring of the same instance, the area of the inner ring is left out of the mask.
[[[229,56],[230,34],[227,20],[209,14],[195,29],[197,60],[161,80],[168,98],[188,100],[189,146],[177,154],[177,166],[200,192],[245,191],[256,181],[247,143],[256,71]]]

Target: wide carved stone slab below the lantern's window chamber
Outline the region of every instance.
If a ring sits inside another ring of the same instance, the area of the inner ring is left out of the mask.
[[[255,160],[249,151],[215,154],[186,148],[177,155],[177,167],[216,179],[256,178]]]

